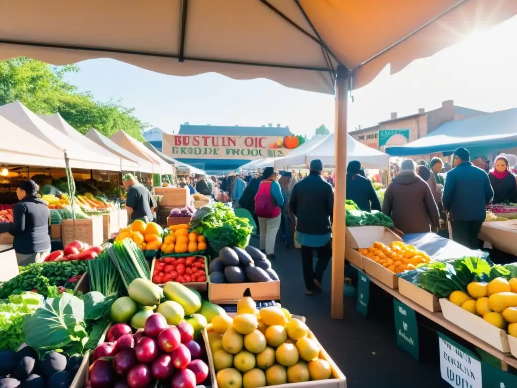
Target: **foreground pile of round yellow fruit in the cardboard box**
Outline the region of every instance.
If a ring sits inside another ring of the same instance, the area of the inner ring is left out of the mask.
[[[207,327],[219,388],[258,388],[326,380],[332,376],[318,342],[305,323],[280,307],[259,311],[251,297],[235,317],[217,316]]]

